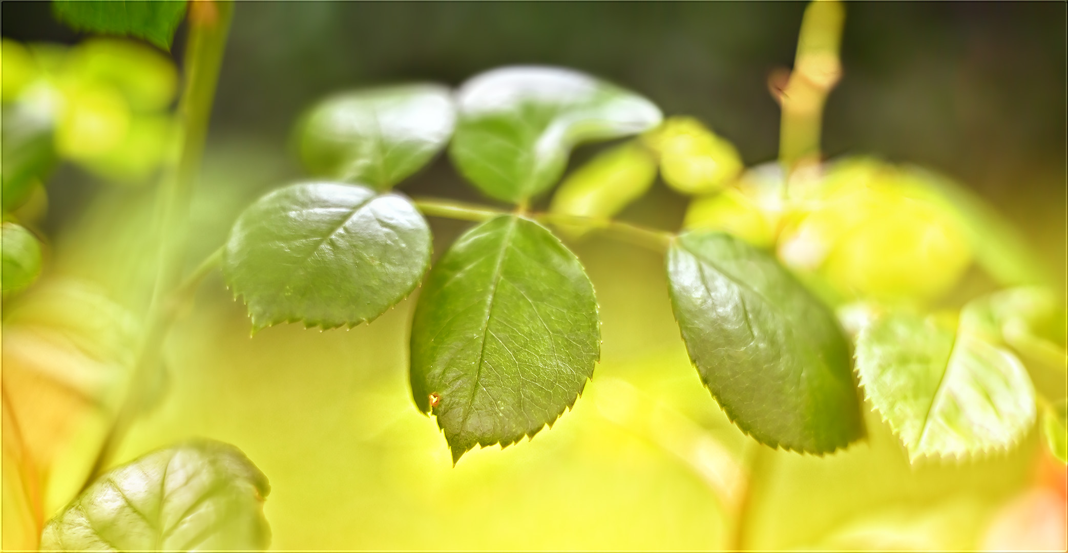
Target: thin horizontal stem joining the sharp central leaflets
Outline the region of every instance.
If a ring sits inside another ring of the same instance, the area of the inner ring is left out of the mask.
[[[423,215],[458,219],[460,221],[482,222],[498,216],[509,215],[508,211],[494,209],[489,206],[454,202],[451,200],[415,199],[413,202]],[[663,252],[675,236],[668,231],[646,228],[612,219],[596,219],[548,212],[527,214],[525,216],[535,221],[553,225],[581,226],[587,230],[600,231],[619,240],[649,248],[657,252]]]

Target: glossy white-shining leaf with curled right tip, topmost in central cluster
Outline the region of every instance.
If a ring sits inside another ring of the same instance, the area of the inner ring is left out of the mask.
[[[450,155],[480,190],[520,203],[556,183],[580,142],[635,135],[660,123],[649,100],[583,73],[503,67],[457,93]]]

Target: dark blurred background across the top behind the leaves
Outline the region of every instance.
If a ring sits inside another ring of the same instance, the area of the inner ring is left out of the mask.
[[[239,2],[213,132],[281,148],[301,110],[337,90],[406,80],[457,84],[502,64],[561,64],[640,91],[666,113],[701,117],[757,163],[778,147],[779,110],[767,76],[791,64],[803,9]],[[3,2],[2,15],[7,37],[79,38],[54,22],[47,2]],[[176,54],[182,41],[179,31]],[[1063,275],[1065,41],[1063,2],[850,3],[845,77],[828,105],[826,152],[878,154],[959,178],[1058,255],[1051,268]],[[436,169],[410,190],[470,194],[451,171]],[[668,211],[665,220],[681,212],[681,198],[657,194],[665,198],[649,203]]]

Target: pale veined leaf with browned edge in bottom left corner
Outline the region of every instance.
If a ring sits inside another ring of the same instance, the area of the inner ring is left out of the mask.
[[[195,440],[109,471],[45,526],[41,549],[264,550],[270,485],[233,445]]]

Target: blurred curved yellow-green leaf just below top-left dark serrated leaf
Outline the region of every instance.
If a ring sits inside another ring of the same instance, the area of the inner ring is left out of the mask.
[[[174,64],[134,41],[85,41],[70,49],[64,70],[69,79],[114,86],[134,111],[167,109],[177,92]]]

